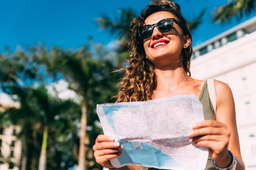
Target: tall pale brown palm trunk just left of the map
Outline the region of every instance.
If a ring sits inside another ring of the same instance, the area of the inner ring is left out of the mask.
[[[82,115],[81,115],[81,130],[80,130],[80,144],[78,153],[78,166],[76,170],[85,170],[85,137],[87,126],[87,103],[82,103]]]

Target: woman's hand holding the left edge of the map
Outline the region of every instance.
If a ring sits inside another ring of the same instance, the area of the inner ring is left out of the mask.
[[[123,147],[119,142],[115,142],[114,137],[99,135],[92,149],[94,150],[94,157],[97,163],[105,168],[115,168],[110,163],[110,159],[121,155]]]

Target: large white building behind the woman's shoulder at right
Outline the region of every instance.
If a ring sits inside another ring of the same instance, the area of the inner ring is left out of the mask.
[[[231,87],[245,169],[256,170],[256,17],[193,50],[193,78],[214,78]]]

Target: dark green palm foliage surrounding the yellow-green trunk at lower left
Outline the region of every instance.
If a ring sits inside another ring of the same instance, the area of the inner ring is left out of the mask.
[[[23,141],[23,156],[27,156],[27,170],[36,170],[42,144],[43,128],[49,127],[48,162],[49,169],[68,169],[76,164],[74,149],[77,148],[76,120],[80,109],[71,100],[50,96],[45,87],[13,87],[12,95],[20,107],[10,107],[0,114],[0,121],[18,124],[18,138]],[[59,161],[57,161],[59,160]],[[63,166],[65,164],[65,166]],[[48,169],[47,168],[47,169]]]

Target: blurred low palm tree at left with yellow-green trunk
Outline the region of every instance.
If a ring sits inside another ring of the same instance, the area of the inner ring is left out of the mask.
[[[77,107],[77,105],[74,105],[72,100],[61,100],[56,96],[50,95],[44,86],[36,88],[12,87],[11,90],[11,94],[20,103],[20,107],[9,107],[2,111],[0,121],[4,126],[9,126],[10,124],[18,124],[20,126],[21,130],[18,138],[25,143],[23,157],[29,158],[25,159],[27,162],[23,162],[27,165],[25,169],[36,169],[37,159],[39,158],[38,169],[46,170],[47,144],[49,142],[47,137],[54,138],[52,143],[55,144],[58,143],[58,137],[65,139],[69,134],[74,133],[74,131],[70,133],[70,129],[74,128],[72,126],[75,126],[75,124],[69,115],[77,115],[76,111],[71,109],[72,107]],[[52,134],[54,134],[54,137]],[[42,138],[37,138],[36,136],[42,136]],[[38,147],[40,144],[41,150],[36,149],[40,148]],[[49,147],[53,148],[52,146]],[[70,149],[72,150],[73,147],[71,146]],[[36,150],[36,152],[31,149]],[[40,156],[38,157],[39,154]],[[34,163],[31,162],[31,160],[35,159],[33,157],[36,158]]]

